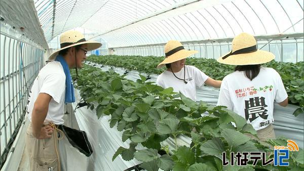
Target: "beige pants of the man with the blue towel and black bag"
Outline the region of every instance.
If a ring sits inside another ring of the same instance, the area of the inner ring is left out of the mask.
[[[30,170],[43,171],[49,170],[49,168],[53,168],[54,171],[58,170],[55,142],[59,153],[58,140],[54,141],[54,133],[52,138],[36,139],[32,134],[31,123],[29,124],[25,136],[25,150],[29,157]]]

